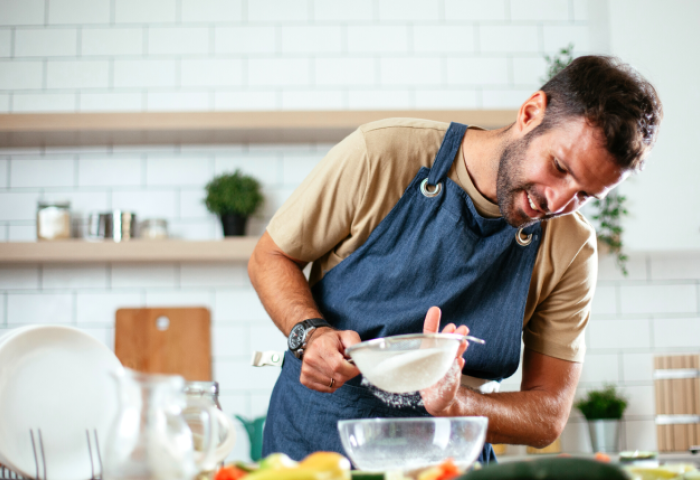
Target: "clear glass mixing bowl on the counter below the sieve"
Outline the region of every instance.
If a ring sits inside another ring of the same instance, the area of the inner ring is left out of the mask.
[[[486,417],[367,418],[340,420],[345,453],[360,470],[409,472],[451,458],[469,468],[486,439]]]

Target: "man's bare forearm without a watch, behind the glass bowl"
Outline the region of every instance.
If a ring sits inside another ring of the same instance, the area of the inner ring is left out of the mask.
[[[544,447],[561,434],[570,402],[537,390],[481,394],[460,388],[450,416],[483,415],[489,418],[486,441]]]

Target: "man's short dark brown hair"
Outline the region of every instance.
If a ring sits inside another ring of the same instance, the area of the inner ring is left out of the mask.
[[[541,90],[547,95],[547,108],[536,129],[540,134],[563,120],[583,117],[600,128],[619,166],[642,169],[656,141],[663,108],[654,87],[635,69],[614,57],[578,57]]]

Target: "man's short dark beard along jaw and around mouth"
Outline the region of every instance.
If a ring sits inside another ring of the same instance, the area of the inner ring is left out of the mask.
[[[542,218],[531,218],[521,208],[516,206],[516,199],[527,192],[532,201],[539,207],[547,204],[546,200],[540,197],[532,189],[532,183],[522,183],[522,165],[527,154],[530,141],[534,138],[530,132],[520,140],[510,142],[503,149],[498,163],[498,178],[496,182],[496,196],[501,215],[509,225],[522,228],[539,222]],[[546,215],[543,218],[549,218]]]

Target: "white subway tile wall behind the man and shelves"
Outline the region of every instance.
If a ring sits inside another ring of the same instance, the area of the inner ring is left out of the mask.
[[[587,0],[5,0],[0,111],[515,108],[545,54],[592,43]],[[40,199],[162,217],[174,236],[221,237],[204,184],[240,168],[270,217],[331,145],[164,145],[0,151],[0,241],[36,239]],[[630,398],[624,442],[654,449],[652,359],[698,353],[700,254],[632,255],[623,277],[600,259],[580,397],[606,382]],[[283,349],[244,264],[0,267],[0,333],[77,325],[113,346],[121,307],[205,306],[227,413],[263,414],[278,371],[249,365]],[[504,382],[517,390],[520,373]],[[565,450],[590,451],[572,412]],[[234,452],[247,456],[245,433]]]

